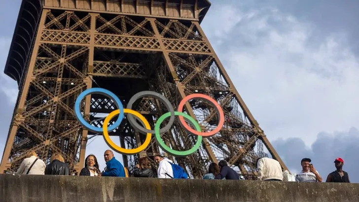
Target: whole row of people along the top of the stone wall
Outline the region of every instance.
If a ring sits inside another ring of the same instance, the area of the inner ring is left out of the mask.
[[[85,167],[81,169],[79,175],[84,176],[113,176],[128,177],[128,170],[114,157],[111,150],[104,153],[106,167],[100,171],[99,163],[95,155],[90,154],[85,159]],[[154,156],[154,161],[158,165],[158,178],[188,178],[186,172],[179,165],[174,164],[170,159],[161,155]],[[311,164],[312,160],[304,158],[301,161],[302,171],[295,175],[296,182],[322,182],[323,178]],[[343,170],[344,161],[336,158],[334,161],[336,170],[329,173],[326,182],[348,182],[348,173]],[[284,175],[280,163],[271,158],[258,158],[256,161],[258,180],[262,181],[283,181]],[[138,164],[133,169],[134,177],[156,177],[156,170],[151,167],[147,157],[139,159]],[[59,153],[52,154],[50,164],[46,165],[38,159],[35,151],[28,152],[26,158],[21,163],[16,174],[50,174],[50,175],[71,175],[69,166]],[[208,173],[203,179],[227,179],[239,180],[240,175],[234,169],[228,167],[226,161],[221,160],[211,163]]]

